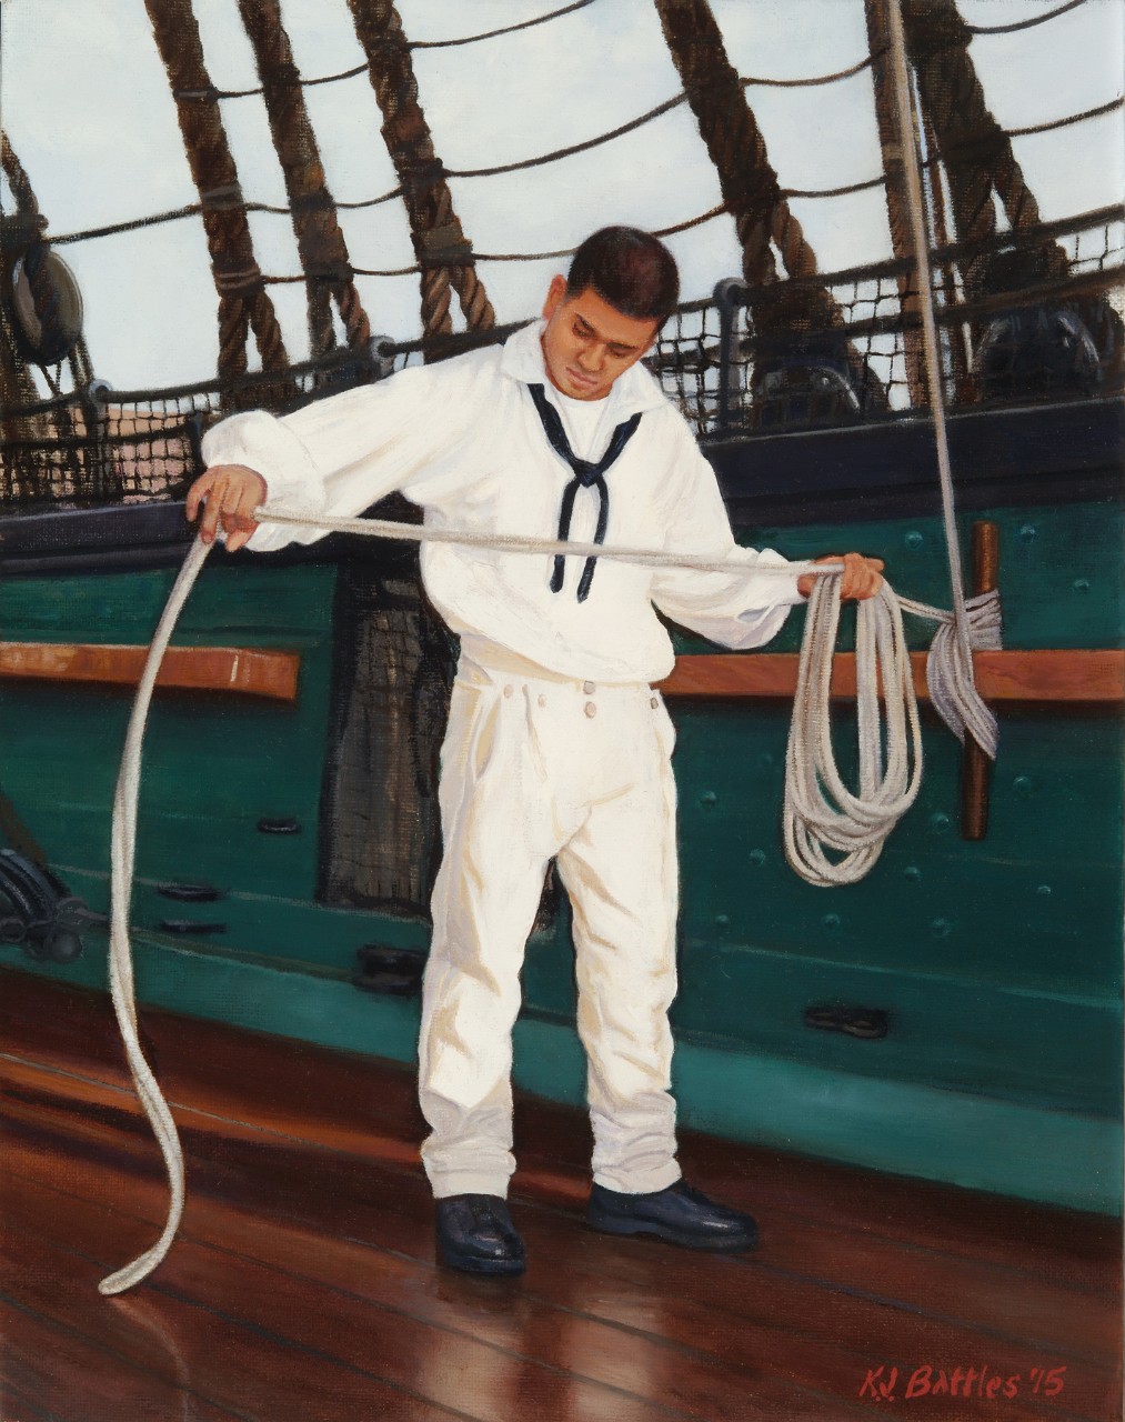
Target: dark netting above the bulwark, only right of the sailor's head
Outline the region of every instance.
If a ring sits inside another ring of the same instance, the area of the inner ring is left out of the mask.
[[[1119,391],[1124,253],[1119,208],[934,252],[946,407]],[[929,404],[912,263],[717,294],[676,313],[651,363],[700,435],[843,428]]]

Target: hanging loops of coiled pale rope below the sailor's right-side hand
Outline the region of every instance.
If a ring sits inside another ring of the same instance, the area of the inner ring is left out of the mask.
[[[870,870],[922,785],[910,653],[902,607],[887,583],[856,609],[858,791],[843,784],[831,720],[839,616],[841,576],[833,573],[809,594],[785,749],[785,857],[795,873],[821,887],[856,883]]]

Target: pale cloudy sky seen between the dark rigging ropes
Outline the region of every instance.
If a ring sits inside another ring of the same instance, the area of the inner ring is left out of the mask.
[[[558,9],[562,0],[398,0],[408,38],[475,34]],[[959,0],[970,24],[1008,24],[1058,0]],[[206,64],[219,88],[257,84],[236,0],[193,0]],[[711,0],[742,75],[804,77],[866,54],[863,0]],[[306,78],[363,61],[346,0],[282,0]],[[1085,0],[1015,34],[977,36],[971,55],[991,111],[1018,128],[1122,94],[1125,0]],[[680,92],[651,0],[593,0],[548,24],[459,48],[415,50],[422,109],[447,168],[512,162],[580,142]],[[821,88],[750,88],[782,186],[841,186],[875,176],[879,149],[870,74]],[[387,192],[395,175],[366,74],[306,90],[337,201]],[[249,199],[286,201],[263,101],[228,100],[223,118]],[[0,0],[0,122],[27,169],[48,235],[139,218],[198,201],[175,104],[142,0]],[[1121,115],[1014,141],[1043,218],[1121,201]],[[661,228],[715,206],[718,179],[687,105],[640,131],[542,168],[451,179],[476,252],[569,247],[609,222]],[[6,210],[11,198],[0,185]],[[880,189],[831,201],[794,199],[818,256],[833,270],[890,255]],[[341,212],[351,260],[414,262],[401,202]],[[286,216],[253,213],[257,262],[300,272]],[[668,240],[686,299],[740,272],[725,215]],[[65,245],[98,377],[117,390],[206,380],[218,354],[216,297],[198,218]],[[482,262],[499,321],[538,314],[558,260]],[[360,277],[373,330],[418,334],[418,279]],[[307,354],[304,289],[272,287],[289,353]]]

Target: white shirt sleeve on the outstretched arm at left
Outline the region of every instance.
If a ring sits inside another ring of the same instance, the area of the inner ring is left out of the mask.
[[[387,493],[410,495],[428,471],[448,474],[464,437],[464,402],[444,387],[457,374],[411,367],[373,385],[313,401],[292,415],[252,410],[203,437],[208,468],[240,464],[266,481],[266,498],[287,513],[351,518]],[[269,552],[311,543],[324,529],[262,523],[246,545]]]

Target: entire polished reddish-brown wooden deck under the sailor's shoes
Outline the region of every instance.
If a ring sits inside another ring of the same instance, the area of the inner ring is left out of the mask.
[[[612,1240],[585,1119],[523,1099],[528,1274],[466,1278],[434,1263],[408,1071],[144,1025],[188,1209],[104,1300],[164,1220],[159,1156],[107,1001],[0,970],[3,1422],[1121,1415],[1116,1221],[688,1136],[759,1249]]]

